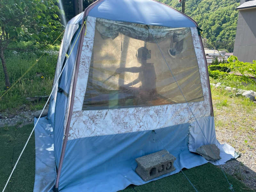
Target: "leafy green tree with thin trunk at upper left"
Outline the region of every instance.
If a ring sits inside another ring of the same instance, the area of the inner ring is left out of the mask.
[[[8,0],[0,2],[0,58],[5,85],[10,87],[4,50],[10,42],[48,44],[62,31],[58,0]]]

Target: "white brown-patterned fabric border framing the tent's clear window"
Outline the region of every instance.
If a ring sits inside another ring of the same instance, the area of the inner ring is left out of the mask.
[[[75,101],[68,140],[89,136],[144,131],[152,128],[158,129],[191,121],[193,119],[193,115],[188,110],[187,103],[142,108],[121,108],[94,111],[82,110],[86,90],[85,82],[87,82],[88,79],[90,58],[92,54],[95,20],[96,18],[94,17],[87,17],[87,33],[86,36],[84,36],[84,45],[80,58],[77,85],[75,88]],[[204,101],[191,102],[189,105],[196,118],[199,118],[211,115],[211,105],[207,86],[208,79],[206,76],[206,63],[202,56],[203,52],[199,42],[197,28],[190,29],[199,66]],[[153,114],[159,115],[154,116]],[[94,121],[93,119],[97,120]],[[108,127],[108,129],[106,129],[106,127]]]

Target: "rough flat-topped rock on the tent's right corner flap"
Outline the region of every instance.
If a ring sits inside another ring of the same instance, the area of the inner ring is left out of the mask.
[[[196,153],[200,154],[208,161],[220,159],[220,149],[215,144],[203,145],[196,149]]]

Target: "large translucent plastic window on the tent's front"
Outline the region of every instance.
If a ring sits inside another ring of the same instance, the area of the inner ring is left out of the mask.
[[[97,18],[82,109],[184,103],[162,54],[186,100],[204,100],[190,28]]]

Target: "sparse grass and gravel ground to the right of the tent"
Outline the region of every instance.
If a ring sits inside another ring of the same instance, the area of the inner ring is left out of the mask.
[[[221,144],[228,143],[241,154],[221,167],[256,190],[256,105],[248,110],[237,102],[241,98],[214,97],[214,92],[212,95],[217,139]],[[220,105],[225,99],[228,100],[226,107]]]

